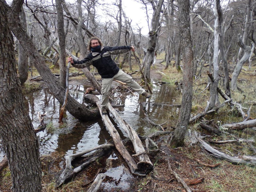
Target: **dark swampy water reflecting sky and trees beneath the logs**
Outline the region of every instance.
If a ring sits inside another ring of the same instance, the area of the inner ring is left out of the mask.
[[[113,86],[117,84],[113,83]],[[84,103],[83,92],[79,90],[86,90],[88,85],[70,85],[69,93],[78,102]],[[118,89],[116,89],[115,96],[119,94]],[[165,105],[159,105],[154,103],[165,103],[173,104],[176,103],[175,100],[178,97],[177,91],[174,87],[169,84],[155,84],[153,82],[153,94],[150,99],[146,99],[143,96],[131,95],[130,93],[124,94],[120,99],[118,99],[118,104],[124,104],[124,107],[115,108],[120,116],[128,122],[140,135],[148,133],[152,129],[148,121],[146,121],[145,114],[148,118],[157,124],[162,124],[165,122],[166,117],[172,115],[176,116],[177,107],[170,107]],[[97,95],[100,99],[100,95]],[[47,129],[39,132],[37,135],[40,139],[40,153],[41,155],[47,155],[52,152],[58,151],[64,154],[73,154],[87,150],[89,148],[95,147],[100,144],[105,144],[111,140],[109,132],[103,125],[101,118],[91,120],[88,119],[87,122],[81,122],[75,119],[69,112],[66,111],[66,124],[59,124],[59,111],[60,104],[49,89],[42,89],[33,93],[25,95],[25,104],[29,109],[29,116],[32,120],[33,126],[36,129],[40,122],[37,118],[38,112],[43,114],[47,112],[44,122],[48,125]],[[145,114],[144,114],[145,113]],[[112,115],[110,115],[113,118]],[[126,133],[121,130],[115,123],[113,118],[113,124],[118,130],[121,138],[126,137]],[[0,154],[0,160],[3,158],[3,153]],[[110,157],[111,158],[111,157]],[[60,166],[65,166],[64,162]],[[129,170],[123,165],[117,167],[112,167],[107,171],[107,176],[112,178],[113,182],[119,180],[119,183],[115,185],[122,186],[122,190],[129,188],[127,184],[127,179],[132,178]],[[108,182],[103,182],[103,186],[109,189],[112,186],[111,179]]]

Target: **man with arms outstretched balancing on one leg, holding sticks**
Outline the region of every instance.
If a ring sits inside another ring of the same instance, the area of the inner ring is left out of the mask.
[[[87,49],[90,51],[90,54],[87,55],[86,58],[81,61],[74,61],[72,57],[69,57],[68,62],[71,61],[71,65],[76,68],[85,68],[93,65],[98,69],[102,78],[101,112],[103,115],[107,114],[105,106],[109,102],[109,91],[114,79],[126,83],[134,91],[142,94],[146,98],[151,97],[151,95],[142,89],[142,87],[136,83],[131,76],[119,70],[119,67],[111,58],[111,55],[122,54],[130,50],[134,51],[135,49],[133,46],[102,47],[101,40],[98,37],[92,37]]]

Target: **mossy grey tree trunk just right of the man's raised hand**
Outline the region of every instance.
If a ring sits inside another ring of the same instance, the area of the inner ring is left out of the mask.
[[[157,40],[157,29],[159,27],[159,19],[162,10],[164,0],[158,0],[157,5],[155,6],[154,1],[151,1],[153,7],[153,16],[151,20],[151,31],[149,31],[149,38],[147,42],[147,52],[145,60],[144,74],[148,82],[150,82],[150,67],[153,64],[155,57],[155,47]]]

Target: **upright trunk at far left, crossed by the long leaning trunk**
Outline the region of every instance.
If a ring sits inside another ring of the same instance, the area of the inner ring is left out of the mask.
[[[26,16],[25,16],[23,7],[20,10],[19,17],[20,17],[20,23],[22,24],[23,29],[27,31]],[[23,49],[23,47],[20,45],[20,42],[18,46],[19,46],[19,59],[18,59],[19,76],[18,77],[19,77],[20,83],[23,85],[28,78],[28,55]]]

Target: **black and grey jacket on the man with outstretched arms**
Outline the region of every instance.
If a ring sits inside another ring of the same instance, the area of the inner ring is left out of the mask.
[[[85,68],[93,65],[98,69],[101,78],[112,78],[119,71],[119,67],[112,60],[111,55],[122,54],[131,50],[131,46],[101,47],[99,52],[91,52],[81,61],[74,61],[76,68]]]

